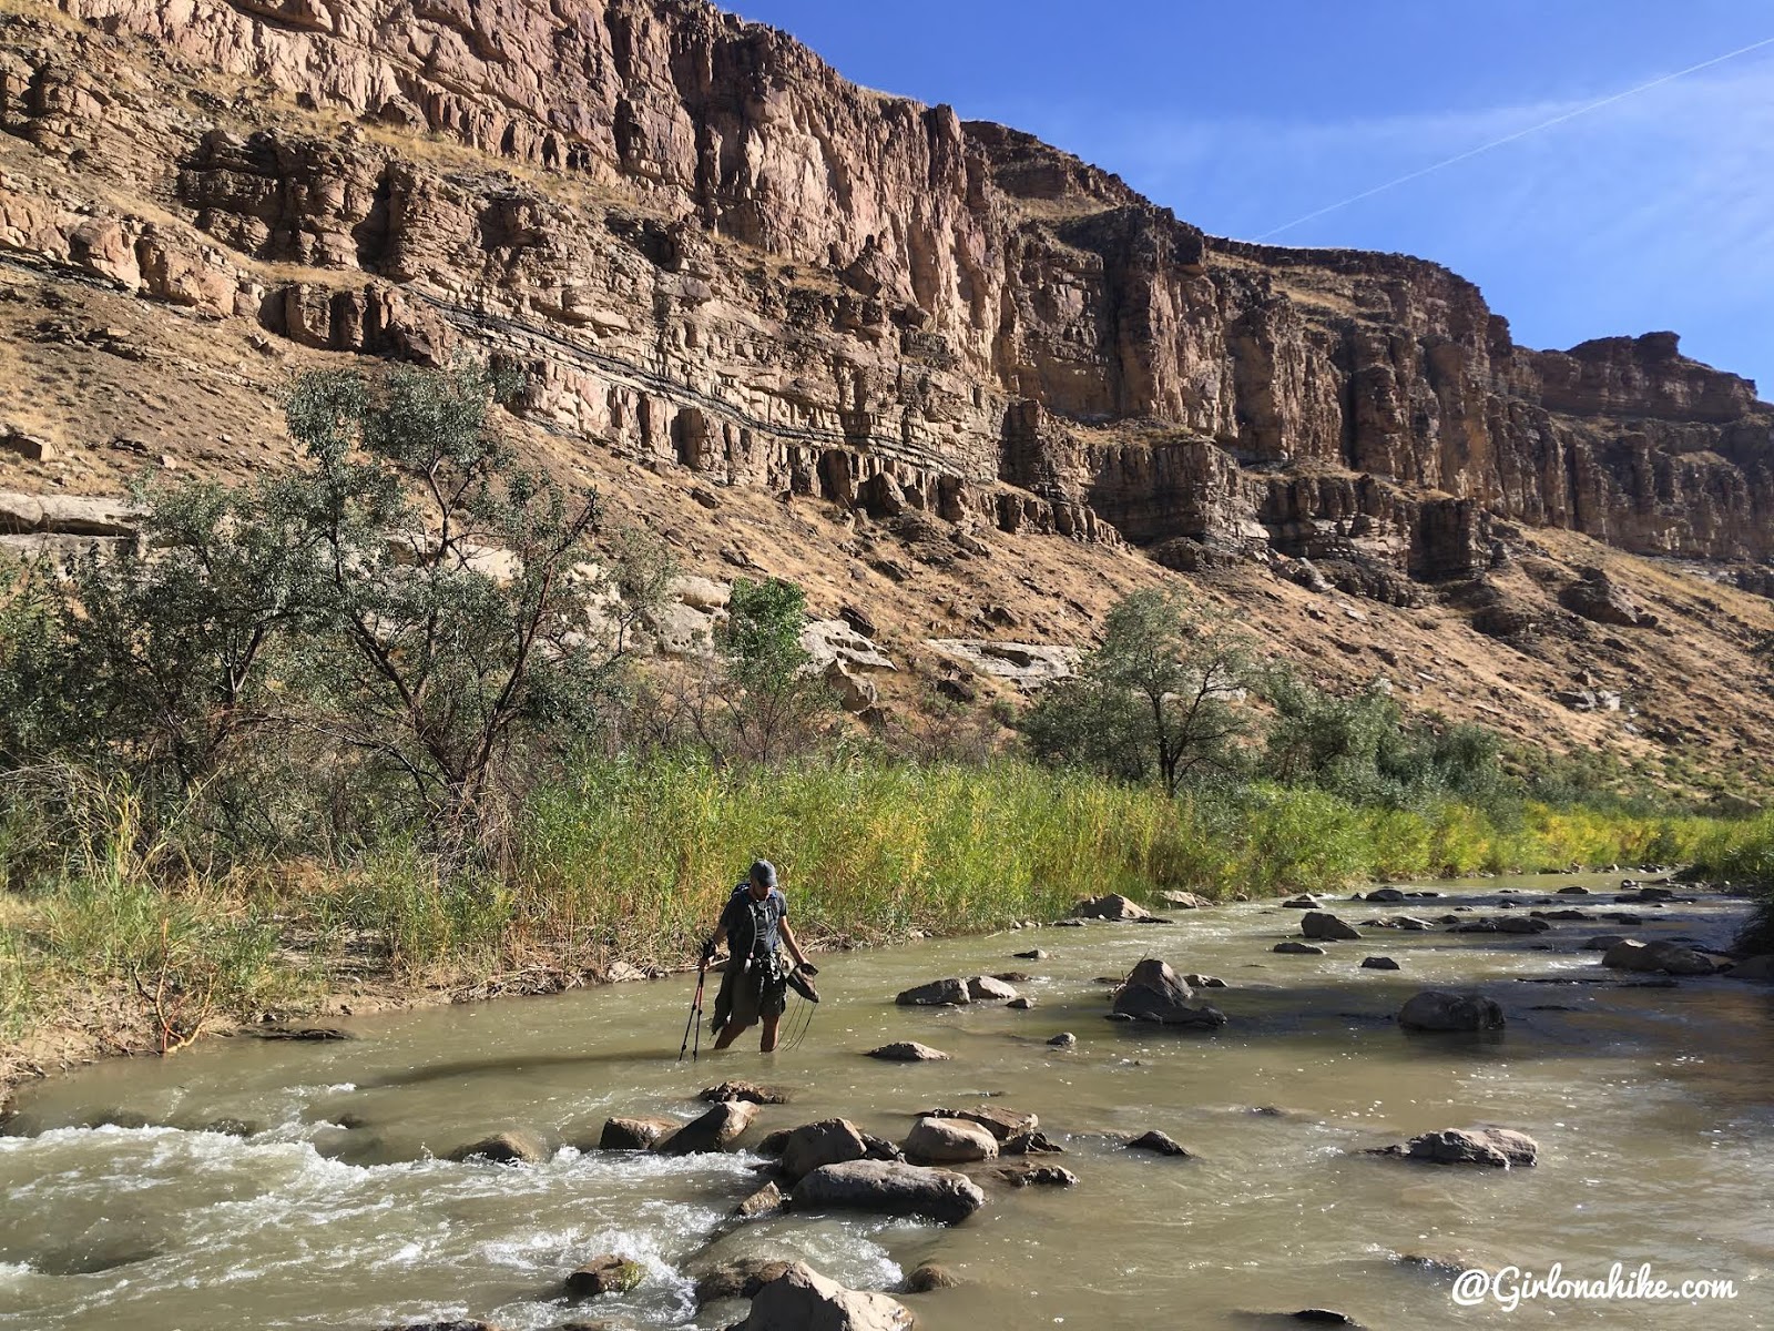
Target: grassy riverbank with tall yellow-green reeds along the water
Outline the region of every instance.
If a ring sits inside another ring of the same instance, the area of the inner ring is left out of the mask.
[[[1056,919],[1105,891],[1245,900],[1696,854],[1730,871],[1774,845],[1769,820],[1267,784],[1167,800],[1015,761],[584,767],[532,797],[498,878],[408,845],[213,870],[130,815],[112,792],[69,827],[9,823],[0,1084],[243,1026],[681,967],[756,855],[804,937],[844,946]]]

